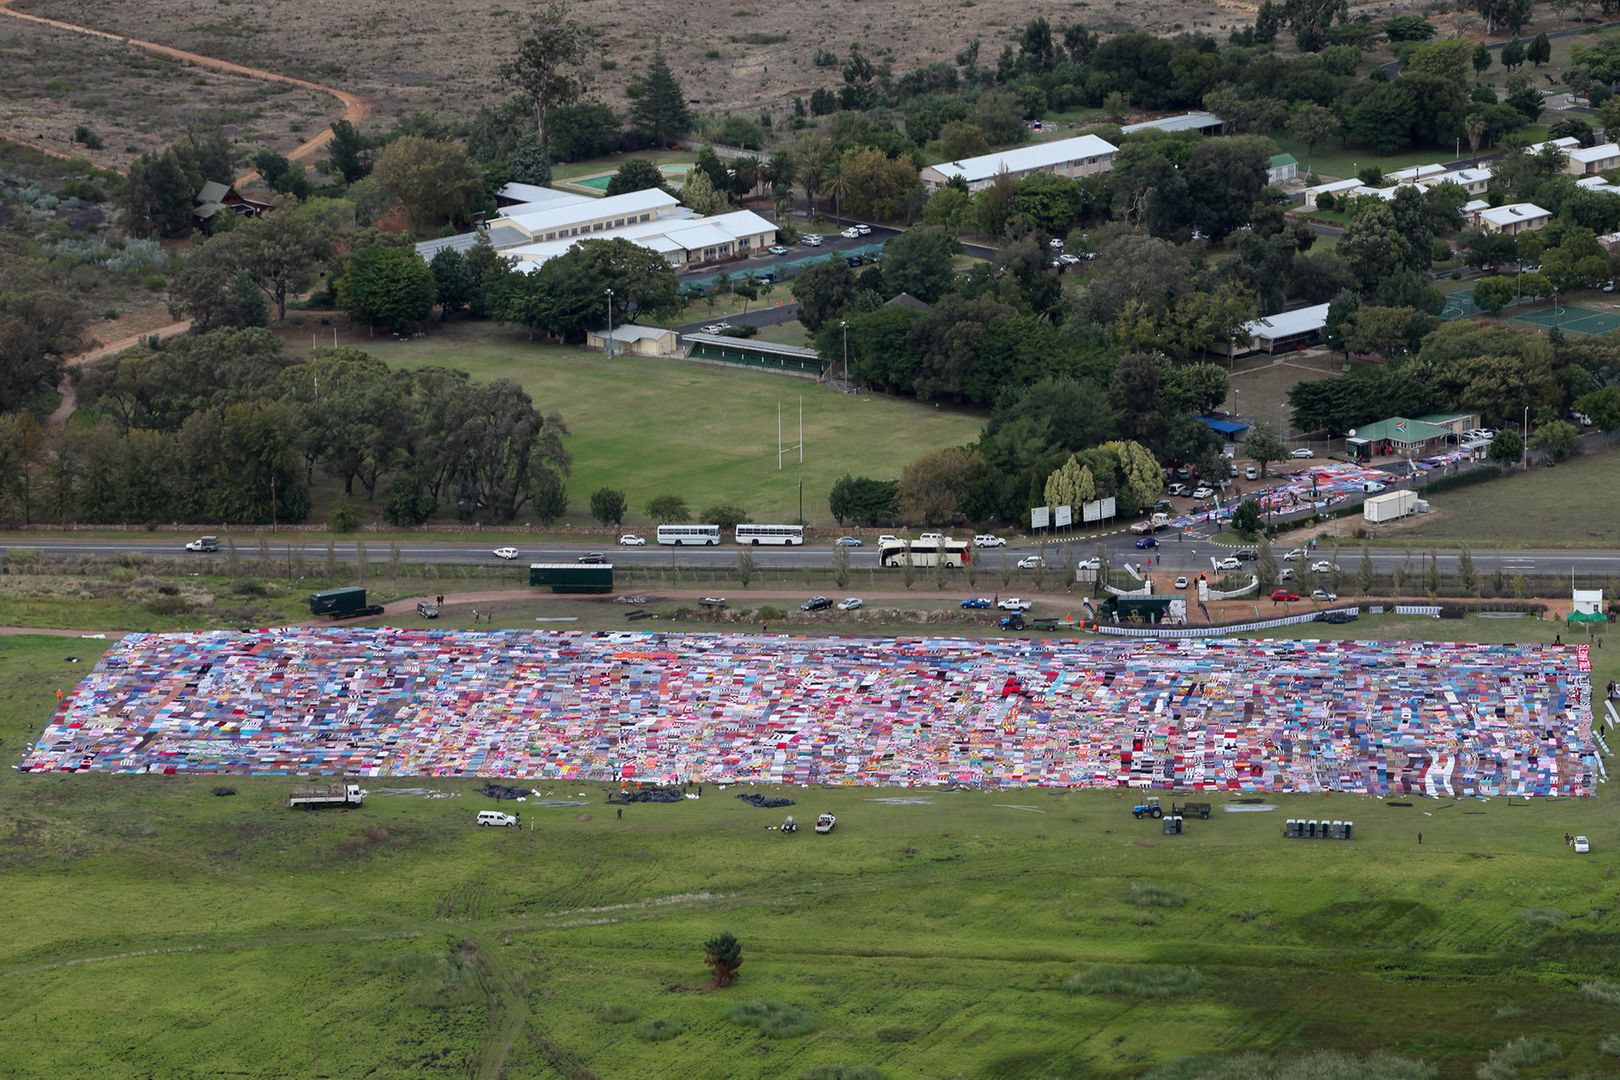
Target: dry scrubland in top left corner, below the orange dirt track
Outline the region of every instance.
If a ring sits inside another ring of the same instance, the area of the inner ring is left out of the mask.
[[[0,18],[0,70],[6,138],[104,167],[125,168],[204,123],[220,125],[241,144],[287,152],[337,115],[326,94],[13,18]],[[102,149],[73,141],[81,125],[102,139]]]

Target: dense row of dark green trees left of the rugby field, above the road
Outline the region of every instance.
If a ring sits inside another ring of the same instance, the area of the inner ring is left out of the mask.
[[[99,421],[49,436],[6,415],[0,517],[300,521],[318,470],[397,525],[567,508],[567,427],[509,381],[390,369],[352,348],[295,359],[267,330],[227,329],[83,369],[79,403]]]

